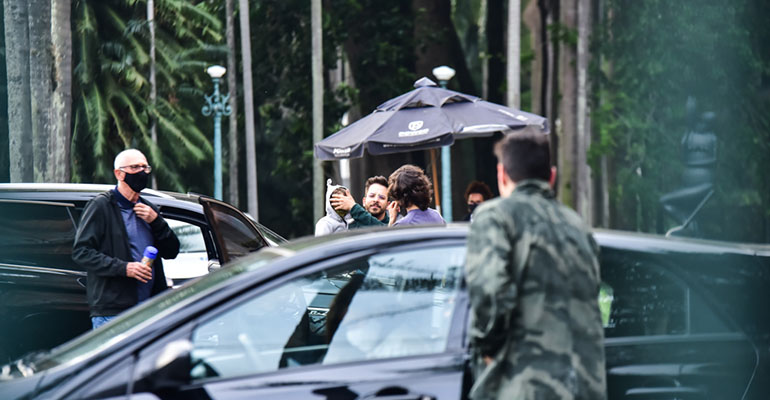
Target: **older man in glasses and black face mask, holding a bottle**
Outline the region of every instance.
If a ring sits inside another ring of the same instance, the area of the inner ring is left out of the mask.
[[[161,257],[176,257],[179,239],[157,207],[139,196],[150,171],[139,150],[118,154],[117,186],[89,201],[80,218],[72,259],[88,272],[86,293],[94,329],[167,289]],[[151,267],[139,262],[147,246],[158,250]]]

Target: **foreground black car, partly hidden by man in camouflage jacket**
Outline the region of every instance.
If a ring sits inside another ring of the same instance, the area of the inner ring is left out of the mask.
[[[467,228],[265,248],[0,371],[5,398],[460,399]],[[767,399],[770,251],[599,231],[610,399]]]

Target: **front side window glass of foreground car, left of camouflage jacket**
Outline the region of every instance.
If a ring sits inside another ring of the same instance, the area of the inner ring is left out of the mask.
[[[464,261],[404,250],[285,282],[194,330],[191,378],[444,352]]]

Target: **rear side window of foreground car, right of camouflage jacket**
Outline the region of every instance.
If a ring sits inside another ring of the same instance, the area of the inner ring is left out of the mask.
[[[608,338],[729,331],[686,282],[633,257],[603,258],[599,307]]]

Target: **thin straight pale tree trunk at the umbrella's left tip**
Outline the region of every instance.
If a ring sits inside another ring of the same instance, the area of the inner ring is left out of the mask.
[[[321,0],[310,0],[312,37],[311,71],[313,79],[313,145],[323,139],[323,41]],[[324,215],[323,165],[313,158],[313,220]]]

